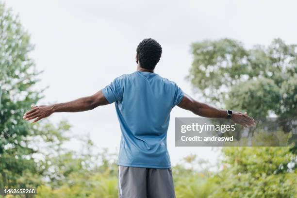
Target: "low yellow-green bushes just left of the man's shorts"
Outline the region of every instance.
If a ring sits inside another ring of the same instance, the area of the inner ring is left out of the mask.
[[[68,151],[51,160],[53,171],[48,174],[51,180],[37,188],[36,198],[117,197],[115,155],[108,154],[105,149],[101,153],[94,153],[94,145],[90,140],[83,145],[84,151]],[[107,158],[106,154],[111,158]]]

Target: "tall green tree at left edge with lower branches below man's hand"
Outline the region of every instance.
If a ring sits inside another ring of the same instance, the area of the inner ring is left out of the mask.
[[[36,188],[50,161],[41,156],[54,154],[52,148],[67,140],[62,135],[69,130],[66,122],[54,127],[49,122],[32,125],[22,118],[42,98],[43,90],[33,89],[39,72],[29,57],[32,50],[18,16],[0,3],[0,188]]]

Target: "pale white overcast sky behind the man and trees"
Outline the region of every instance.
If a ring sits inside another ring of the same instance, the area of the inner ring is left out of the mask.
[[[91,95],[115,77],[136,69],[135,49],[147,37],[163,47],[156,73],[192,94],[185,76],[191,66],[190,44],[203,39],[234,38],[247,47],[280,37],[297,43],[297,1],[294,0],[4,0],[19,13],[32,34],[32,57],[42,81],[49,85],[40,104]],[[199,100],[199,99],[198,99]],[[203,100],[203,99],[200,99]],[[193,114],[175,107],[168,130],[168,150],[175,165],[196,153],[215,162],[211,148],[175,147],[174,118]],[[114,104],[83,113],[52,115],[67,119],[74,134],[89,133],[98,147],[115,150],[120,129]],[[77,143],[69,144],[77,148]]]

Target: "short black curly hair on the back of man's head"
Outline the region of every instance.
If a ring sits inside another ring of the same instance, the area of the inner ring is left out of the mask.
[[[136,49],[140,66],[153,70],[162,55],[161,45],[152,38],[142,40]]]

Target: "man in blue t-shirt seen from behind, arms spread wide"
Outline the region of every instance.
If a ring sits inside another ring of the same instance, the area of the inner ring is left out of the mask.
[[[228,118],[245,127],[246,113],[216,109],[192,99],[154,73],[162,54],[154,39],[136,49],[137,71],[122,75],[93,96],[49,106],[33,106],[24,119],[37,122],[55,112],[81,112],[115,102],[122,132],[118,156],[119,198],[175,198],[166,135],[174,106],[204,117]]]

